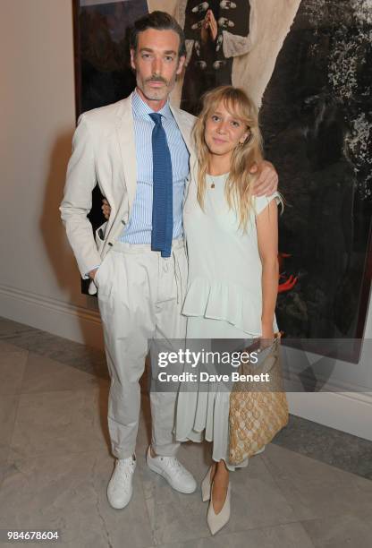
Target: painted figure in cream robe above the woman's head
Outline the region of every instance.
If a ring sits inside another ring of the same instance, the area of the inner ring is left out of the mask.
[[[187,49],[173,102],[197,114],[204,91],[232,84],[259,107],[300,0],[177,0],[175,5],[171,0],[165,5],[182,26]]]

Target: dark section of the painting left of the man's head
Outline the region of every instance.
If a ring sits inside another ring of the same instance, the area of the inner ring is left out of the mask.
[[[74,0],[77,116],[127,97],[135,86],[129,30],[146,0]]]

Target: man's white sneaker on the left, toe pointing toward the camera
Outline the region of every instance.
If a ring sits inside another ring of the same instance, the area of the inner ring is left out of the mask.
[[[134,458],[117,458],[114,472],[107,485],[107,499],[115,509],[122,509],[131,501],[133,494]]]

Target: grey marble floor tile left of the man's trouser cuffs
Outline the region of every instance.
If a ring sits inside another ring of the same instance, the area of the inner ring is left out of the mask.
[[[11,442],[14,457],[108,448],[106,390],[21,394]]]

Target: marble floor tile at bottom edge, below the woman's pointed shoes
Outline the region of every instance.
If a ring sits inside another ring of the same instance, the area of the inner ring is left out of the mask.
[[[185,543],[161,544],[157,548],[314,548],[300,523],[250,529],[231,535],[226,535],[224,531],[225,529],[221,529],[213,537]]]

